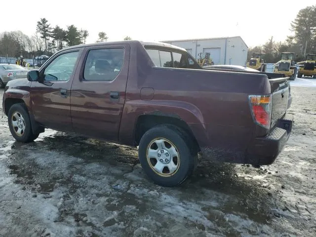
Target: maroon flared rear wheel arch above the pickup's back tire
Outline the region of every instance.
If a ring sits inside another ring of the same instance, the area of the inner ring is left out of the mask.
[[[192,135],[199,147],[205,146],[208,142],[203,114],[197,106],[185,101],[127,101],[121,116],[118,141],[122,144],[137,146],[141,136],[139,124],[142,122],[146,122],[146,128],[155,124],[171,123],[171,125],[180,126]]]

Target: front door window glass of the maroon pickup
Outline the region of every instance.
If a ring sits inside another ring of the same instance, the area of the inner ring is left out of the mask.
[[[44,70],[44,80],[67,81],[73,74],[79,51],[57,56]]]

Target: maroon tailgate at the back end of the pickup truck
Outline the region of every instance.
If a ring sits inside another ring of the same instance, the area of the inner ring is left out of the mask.
[[[277,120],[282,118],[288,108],[290,90],[288,78],[269,79],[272,95],[271,128],[276,126]]]

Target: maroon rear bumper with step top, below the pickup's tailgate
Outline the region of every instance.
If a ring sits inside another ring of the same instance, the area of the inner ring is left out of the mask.
[[[272,164],[283,150],[293,126],[293,117],[285,115],[278,119],[276,127],[266,137],[256,138],[247,149],[245,163],[253,165]]]

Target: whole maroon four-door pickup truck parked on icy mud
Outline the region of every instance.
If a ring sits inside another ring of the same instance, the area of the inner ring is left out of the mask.
[[[3,111],[19,142],[52,128],[138,146],[146,174],[174,186],[192,174],[199,152],[214,161],[273,163],[292,130],[287,79],[205,70],[165,43],[82,44],[9,81]]]

